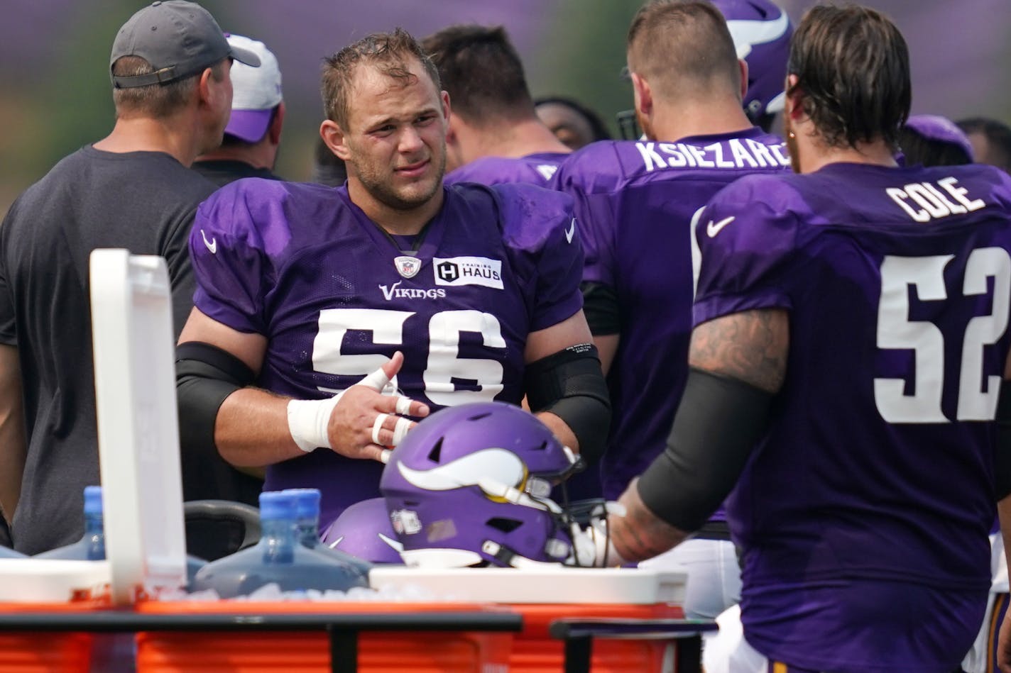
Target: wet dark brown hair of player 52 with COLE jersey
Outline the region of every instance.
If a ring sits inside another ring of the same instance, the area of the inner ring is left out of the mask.
[[[817,6],[794,32],[787,71],[803,110],[831,148],[884,140],[893,149],[912,98],[909,50],[884,14],[867,7]]]

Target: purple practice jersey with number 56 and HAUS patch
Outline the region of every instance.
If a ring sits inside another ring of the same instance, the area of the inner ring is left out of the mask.
[[[524,396],[527,335],[581,307],[571,202],[529,185],[445,188],[401,251],[347,188],[240,180],[198,213],[194,303],[267,338],[256,385],[298,399],[345,390],[404,355],[394,385],[433,410]],[[320,520],[379,497],[382,465],[317,449],[268,468],[266,490],[318,488]]]

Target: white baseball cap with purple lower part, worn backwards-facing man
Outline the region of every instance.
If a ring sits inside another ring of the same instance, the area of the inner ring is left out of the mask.
[[[228,44],[260,58],[259,68],[236,61],[232,64],[232,116],[224,132],[259,142],[267,132],[273,110],[281,102],[281,69],[277,58],[263,42],[225,33]]]

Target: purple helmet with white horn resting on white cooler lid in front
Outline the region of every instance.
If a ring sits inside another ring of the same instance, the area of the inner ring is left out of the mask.
[[[379,488],[407,565],[560,563],[571,555],[572,521],[549,494],[579,467],[534,414],[473,402],[407,432]]]

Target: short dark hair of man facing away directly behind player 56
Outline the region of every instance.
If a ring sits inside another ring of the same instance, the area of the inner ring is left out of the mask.
[[[451,25],[422,40],[453,112],[486,126],[534,116],[523,62],[502,26]]]

